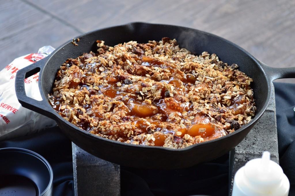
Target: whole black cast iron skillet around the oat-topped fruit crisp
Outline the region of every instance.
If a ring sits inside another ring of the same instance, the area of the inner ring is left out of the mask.
[[[237,63],[239,69],[254,80],[252,88],[257,114],[253,120],[234,133],[219,139],[195,144],[184,149],[167,149],[157,146],[125,144],[95,136],[64,120],[48,103],[47,94],[52,92],[55,75],[60,65],[67,58],[76,58],[83,52],[91,50],[96,52],[97,39],[104,40],[106,45],[114,46],[130,40],[146,43],[148,40],[161,40],[162,37],[176,38],[180,47],[184,47],[194,54],[208,51],[210,54],[217,54],[223,62]],[[53,118],[63,133],[85,151],[124,166],[150,169],[183,168],[215,159],[227,153],[245,138],[266,110],[271,97],[272,81],[295,76],[295,67],[280,69],[268,67],[226,39],[187,27],[134,22],[99,29],[77,38],[80,38],[78,46],[68,41],[45,59],[19,70],[15,82],[17,98],[23,107]],[[39,71],[39,89],[42,101],[27,97],[24,90],[24,79]]]

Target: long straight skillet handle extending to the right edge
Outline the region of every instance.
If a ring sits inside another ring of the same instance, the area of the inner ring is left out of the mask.
[[[265,70],[267,77],[271,81],[280,78],[295,78],[295,67],[276,68],[263,63],[263,70]]]

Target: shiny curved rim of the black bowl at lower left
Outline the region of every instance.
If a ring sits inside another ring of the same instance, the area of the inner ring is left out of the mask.
[[[48,191],[50,191],[51,187],[53,186],[53,170],[52,170],[50,164],[48,163],[48,161],[44,157],[42,157],[37,152],[31,151],[31,150],[28,150],[28,149],[24,149],[24,148],[0,148],[0,153],[3,152],[3,151],[24,152],[24,153],[29,154],[29,155],[31,155],[33,157],[36,157],[37,159],[42,161],[46,165],[46,167],[47,167],[47,169],[49,171],[50,181],[49,181],[46,189],[42,193],[40,193],[39,195],[40,196],[45,195],[45,194],[47,194]]]

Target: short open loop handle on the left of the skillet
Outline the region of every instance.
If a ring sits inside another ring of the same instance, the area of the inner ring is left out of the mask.
[[[44,114],[45,116],[49,118],[55,118],[54,113],[52,112],[52,108],[48,104],[48,101],[42,97],[42,101],[37,101],[33,98],[30,98],[26,95],[26,90],[24,88],[24,80],[35,73],[42,72],[42,69],[45,65],[45,62],[47,61],[48,57],[45,57],[42,60],[39,60],[27,67],[22,68],[21,70],[17,71],[16,77],[15,77],[15,93],[17,95],[17,99],[19,103],[24,107],[28,108],[32,111]],[[39,78],[39,83],[41,81],[41,78]],[[39,85],[40,88],[40,85]],[[42,93],[40,93],[42,96]],[[44,110],[47,112],[44,113]]]

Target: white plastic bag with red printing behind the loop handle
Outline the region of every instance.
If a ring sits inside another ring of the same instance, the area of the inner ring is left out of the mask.
[[[23,108],[17,100],[14,89],[16,72],[47,57],[53,50],[51,46],[44,46],[39,49],[38,53],[14,59],[0,71],[0,140],[28,135],[56,126],[54,120]],[[39,73],[36,73],[25,79],[25,90],[27,96],[40,101],[42,98],[38,87],[38,77]]]

